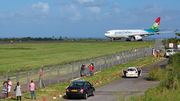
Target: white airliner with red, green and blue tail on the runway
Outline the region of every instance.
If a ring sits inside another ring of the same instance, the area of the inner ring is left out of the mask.
[[[134,40],[142,40],[143,37],[147,37],[150,35],[155,35],[155,34],[160,34],[160,33],[172,33],[175,31],[166,31],[166,32],[159,32],[163,30],[168,30],[168,29],[163,29],[159,30],[159,24],[160,24],[160,19],[161,17],[158,17],[153,24],[153,26],[150,29],[137,29],[137,30],[110,30],[105,33],[105,36],[108,38],[111,38],[111,41],[113,40],[119,40],[121,38],[126,38],[126,41],[130,41],[131,39]]]

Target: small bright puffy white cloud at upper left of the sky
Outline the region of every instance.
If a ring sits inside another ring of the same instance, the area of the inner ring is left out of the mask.
[[[44,13],[48,13],[49,12],[49,5],[48,5],[48,3],[39,2],[38,4],[33,4],[32,9],[33,10],[40,10]]]

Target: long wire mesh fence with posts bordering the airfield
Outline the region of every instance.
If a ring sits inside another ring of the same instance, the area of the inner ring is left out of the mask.
[[[94,63],[94,72],[101,71],[103,69],[110,68],[117,64],[123,64],[128,61],[139,59],[144,57],[145,52],[147,56],[152,55],[152,47],[148,48],[137,48],[126,51],[114,52],[106,55],[100,55],[96,57],[86,58],[79,61],[69,61],[67,64],[59,63],[58,66],[53,66],[51,64],[49,68],[43,68],[37,70],[31,70],[31,67],[27,72],[20,72],[20,69],[17,73],[10,73],[10,70],[6,75],[0,76],[0,81],[4,82],[8,78],[11,79],[13,87],[15,87],[16,82],[20,82],[21,90],[23,92],[29,91],[30,80],[33,80],[36,84],[36,88],[49,86],[51,84],[67,82],[68,80],[79,78],[81,65],[86,66],[85,73],[89,74],[88,65]],[[2,88],[2,85],[0,86]]]

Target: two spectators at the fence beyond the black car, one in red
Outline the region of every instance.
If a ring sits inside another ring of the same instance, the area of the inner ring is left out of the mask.
[[[91,62],[88,68],[89,68],[90,76],[92,77],[94,75],[94,64]],[[85,65],[83,64],[81,66],[81,77],[84,77],[84,76],[86,76],[86,72],[85,72]]]

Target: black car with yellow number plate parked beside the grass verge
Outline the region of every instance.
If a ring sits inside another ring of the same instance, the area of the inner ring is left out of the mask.
[[[68,98],[79,96],[87,99],[89,95],[95,95],[95,88],[88,81],[74,81],[66,89],[66,95]]]

